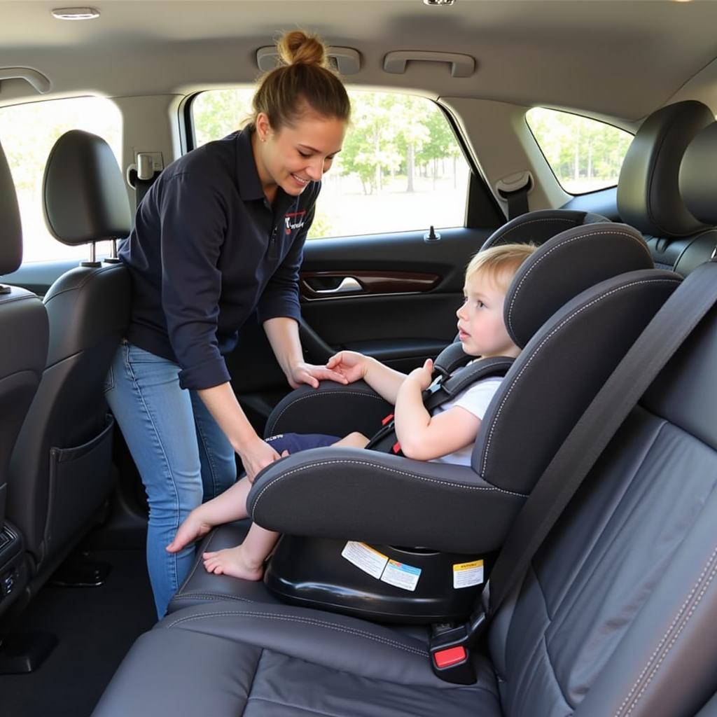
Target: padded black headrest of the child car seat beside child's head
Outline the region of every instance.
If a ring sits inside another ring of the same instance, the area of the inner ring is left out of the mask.
[[[653,267],[645,240],[627,224],[599,222],[568,229],[538,247],[518,268],[505,295],[505,326],[523,348],[579,293],[619,274]]]

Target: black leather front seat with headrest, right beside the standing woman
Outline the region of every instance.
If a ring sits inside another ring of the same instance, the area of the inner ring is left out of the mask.
[[[43,205],[63,244],[92,245],[92,260],[49,288],[49,351],[42,382],[10,462],[8,515],[25,538],[32,590],[92,526],[113,486],[113,418],[104,398],[110,361],[128,323],[130,279],[94,261],[94,243],[127,236],[131,214],[108,144],[80,130],[47,160]]]

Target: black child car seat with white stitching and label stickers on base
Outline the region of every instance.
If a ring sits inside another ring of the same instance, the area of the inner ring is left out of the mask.
[[[571,427],[679,284],[651,266],[638,232],[604,223],[561,232],[523,263],[505,299],[505,324],[523,351],[499,367],[505,380],[470,467],[333,447],[267,467],[249,498],[253,520],[285,533],[267,587],[374,620],[465,617],[480,590],[479,561],[500,547]],[[333,414],[354,417],[352,393],[370,391],[343,388],[323,384],[330,397],[294,391],[267,431],[321,431],[320,402],[323,432],[336,432]]]

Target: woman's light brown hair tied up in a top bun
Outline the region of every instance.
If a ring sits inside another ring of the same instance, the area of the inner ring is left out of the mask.
[[[286,32],[277,41],[284,65],[267,72],[252,100],[254,115],[265,113],[275,131],[293,127],[307,111],[348,122],[351,102],[346,87],[330,69],[326,45],[302,30]]]

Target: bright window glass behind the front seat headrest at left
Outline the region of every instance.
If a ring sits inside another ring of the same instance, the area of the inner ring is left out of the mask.
[[[67,130],[85,130],[104,138],[121,156],[122,118],[111,100],[70,98],[0,108],[0,144],[17,191],[22,217],[23,262],[82,259],[89,247],[67,247],[47,231],[42,213],[42,176],[55,141]],[[97,245],[109,255],[109,242]]]

